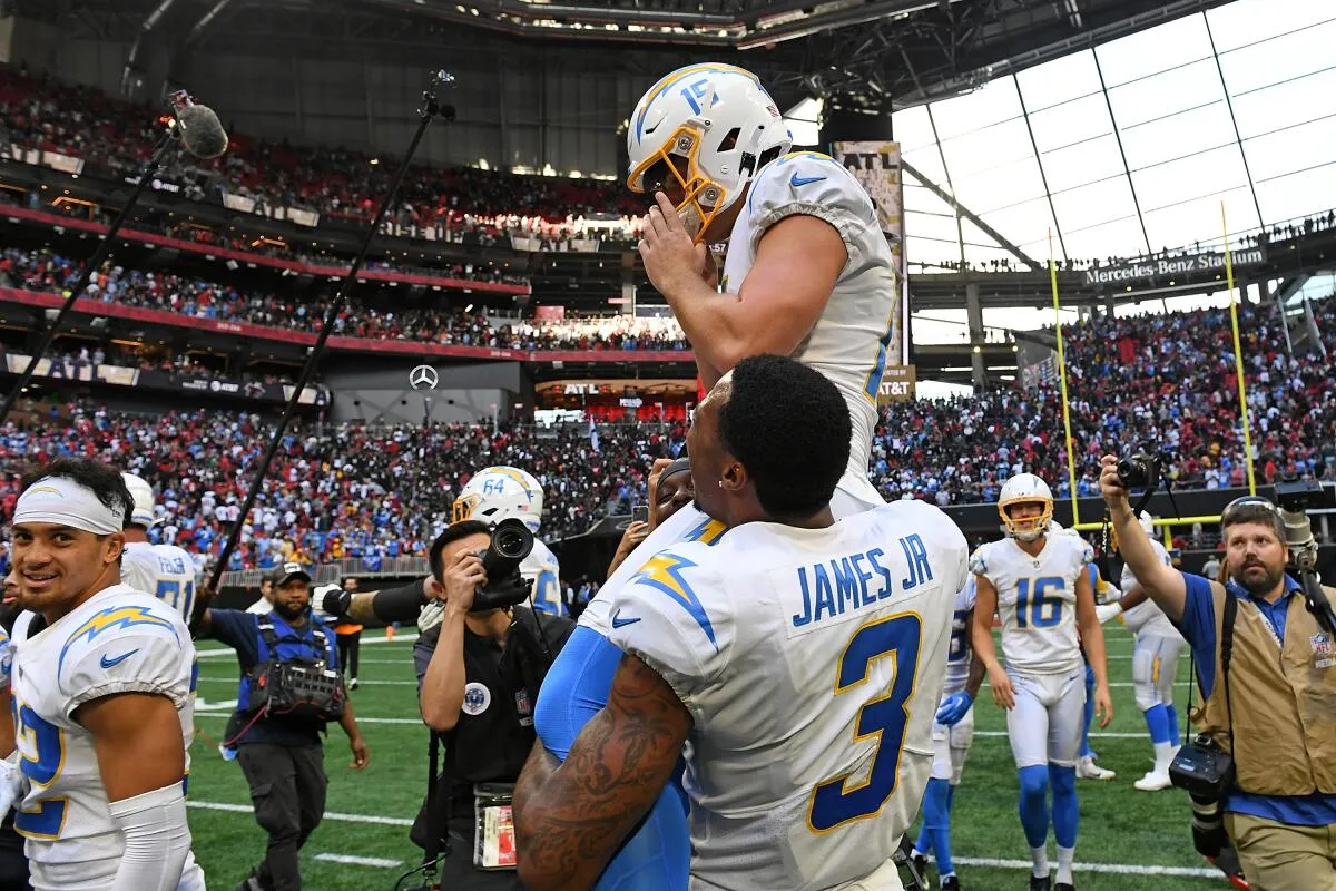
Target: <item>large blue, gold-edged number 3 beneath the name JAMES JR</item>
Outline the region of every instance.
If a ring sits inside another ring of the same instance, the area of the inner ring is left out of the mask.
[[[854,632],[839,661],[835,695],[848,693],[867,681],[872,663],[887,656],[894,664],[890,689],[878,691],[858,712],[855,743],[875,740],[876,753],[867,779],[850,785],[848,773],[816,784],[807,808],[814,832],[830,832],[852,820],[876,816],[899,784],[900,747],[908,721],[910,695],[918,667],[922,622],[916,613],[898,613],[868,622]]]

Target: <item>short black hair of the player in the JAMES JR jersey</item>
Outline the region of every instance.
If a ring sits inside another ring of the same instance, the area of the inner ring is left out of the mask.
[[[810,517],[835,494],[852,423],[835,385],[782,355],[743,359],[719,409],[719,435],[776,518]]]

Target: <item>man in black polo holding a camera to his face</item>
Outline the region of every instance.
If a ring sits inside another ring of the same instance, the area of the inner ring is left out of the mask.
[[[414,840],[430,852],[430,836],[440,839],[441,887],[458,891],[521,887],[513,866],[497,870],[497,860],[513,864],[513,846],[512,856],[476,855],[478,824],[509,823],[509,787],[533,747],[538,688],[574,629],[557,616],[542,616],[540,624],[518,605],[529,590],[518,561],[509,577],[489,578],[484,554],[490,557],[493,534],[502,528],[493,533],[466,520],[432,542],[429,593],[444,605],[444,618],[413,648],[422,720],[444,748],[434,808],[424,811]],[[497,807],[476,807],[493,793]]]

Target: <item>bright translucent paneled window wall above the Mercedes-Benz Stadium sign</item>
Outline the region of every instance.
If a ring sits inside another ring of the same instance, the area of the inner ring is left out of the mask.
[[[1218,250],[1226,222],[1325,214],[1333,40],[1328,4],[1238,0],[896,111],[910,260],[1033,269],[1050,232],[1059,262]]]

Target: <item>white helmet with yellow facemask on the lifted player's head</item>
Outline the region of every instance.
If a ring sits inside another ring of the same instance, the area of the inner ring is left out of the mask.
[[[723,63],[687,65],[636,103],[627,124],[627,186],[652,192],[676,178],[685,194],[677,215],[699,242],[756,171],[792,144],[756,75]]]

